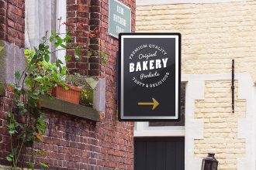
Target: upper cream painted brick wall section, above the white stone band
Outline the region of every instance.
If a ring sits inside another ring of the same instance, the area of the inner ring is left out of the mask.
[[[137,6],[137,32],[181,32],[182,73],[249,72],[256,82],[256,1]]]

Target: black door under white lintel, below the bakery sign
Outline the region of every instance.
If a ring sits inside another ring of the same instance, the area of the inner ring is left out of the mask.
[[[134,170],[184,170],[185,138],[134,138]]]

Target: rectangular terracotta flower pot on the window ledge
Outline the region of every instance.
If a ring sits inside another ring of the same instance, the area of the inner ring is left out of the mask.
[[[57,99],[65,100],[74,104],[79,104],[80,96],[81,96],[81,87],[73,87],[67,85],[68,90],[65,90],[64,87],[58,85],[53,90],[53,96]]]

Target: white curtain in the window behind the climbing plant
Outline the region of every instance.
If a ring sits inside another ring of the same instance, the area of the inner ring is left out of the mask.
[[[31,49],[38,46],[43,36],[50,36],[51,30],[57,29],[57,19],[66,22],[66,0],[26,0],[25,16],[25,45]],[[61,33],[66,32],[65,26],[61,26]],[[52,51],[55,50],[51,46]],[[65,50],[57,51],[55,55],[64,63]],[[51,56],[54,62],[56,56]]]

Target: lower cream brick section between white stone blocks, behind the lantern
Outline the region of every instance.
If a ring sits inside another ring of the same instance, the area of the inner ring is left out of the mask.
[[[204,121],[203,139],[195,140],[195,157],[216,153],[218,169],[228,170],[237,169],[237,158],[245,156],[245,139],[237,138],[237,119],[245,117],[246,101],[237,100],[236,90],[232,113],[230,86],[229,80],[206,81],[205,100],[195,102],[195,118]]]

